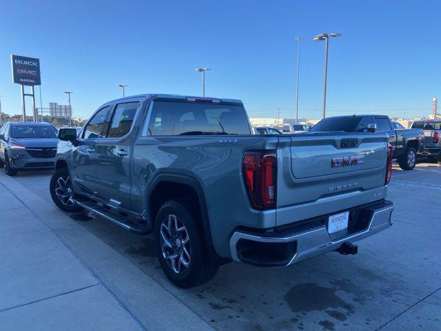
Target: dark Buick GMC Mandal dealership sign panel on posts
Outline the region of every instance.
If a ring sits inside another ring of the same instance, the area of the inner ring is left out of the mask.
[[[41,85],[40,60],[11,54],[12,81],[21,85]]]

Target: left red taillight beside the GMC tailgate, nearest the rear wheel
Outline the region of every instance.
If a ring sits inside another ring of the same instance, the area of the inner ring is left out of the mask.
[[[253,208],[259,210],[276,208],[276,152],[245,152],[243,179]]]

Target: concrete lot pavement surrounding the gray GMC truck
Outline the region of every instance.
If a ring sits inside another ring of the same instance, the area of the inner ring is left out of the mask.
[[[0,170],[1,222],[36,219],[32,227],[44,225],[50,232],[45,236],[68,251],[54,265],[76,265],[76,271],[62,270],[62,277],[44,269],[34,274],[37,267],[26,264],[24,249],[12,255],[12,263],[6,252],[23,248],[30,234],[20,227],[11,230],[15,238],[6,236],[13,224],[1,226],[0,246],[5,243],[8,250],[0,247],[0,329],[24,330],[14,329],[14,323],[22,323],[22,315],[32,319],[39,312],[35,305],[94,291],[72,302],[87,306],[102,297],[99,302],[105,305],[64,309],[52,303],[72,330],[77,330],[72,321],[81,316],[78,330],[441,330],[441,166],[424,161],[410,172],[393,169],[388,199],[396,203],[394,224],[358,243],[357,255],[332,252],[284,269],[229,263],[212,281],[190,290],[167,281],[154,257],[152,237],[139,237],[94,215],[57,210],[48,190],[52,172],[7,177]],[[37,231],[32,227],[30,232]],[[55,254],[46,252],[48,257],[35,257],[43,265]],[[6,270],[11,263],[21,273]],[[20,281],[30,274],[40,280]],[[50,292],[57,284],[60,289]],[[41,330],[60,330],[56,327],[63,321]],[[23,325],[31,330],[35,324]]]

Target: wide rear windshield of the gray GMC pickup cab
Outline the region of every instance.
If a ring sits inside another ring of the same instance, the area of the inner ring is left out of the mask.
[[[154,101],[147,135],[251,134],[245,109],[236,104]]]

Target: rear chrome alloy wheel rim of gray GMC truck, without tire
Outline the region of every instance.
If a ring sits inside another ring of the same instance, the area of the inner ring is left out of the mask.
[[[159,233],[163,258],[176,274],[182,274],[188,269],[192,254],[185,225],[170,214],[162,221]]]

